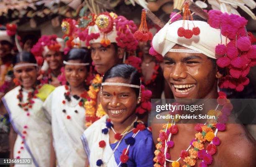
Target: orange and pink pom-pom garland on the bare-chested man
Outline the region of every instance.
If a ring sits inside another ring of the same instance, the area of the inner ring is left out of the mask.
[[[195,130],[198,131],[198,133],[195,134],[195,139],[190,142],[187,150],[181,151],[180,157],[175,161],[168,160],[170,158],[168,150],[174,146],[174,142],[170,139],[172,135],[177,134],[178,127],[175,125],[174,120],[172,120],[171,124],[168,122],[163,126],[163,130],[160,130],[158,138],[159,143],[156,145],[157,150],[155,151],[156,156],[154,158],[156,163],[154,167],[166,167],[166,161],[172,162],[172,167],[179,167],[179,160],[181,158],[186,162],[186,165],[183,165],[182,167],[195,166],[198,158],[202,160],[199,165],[200,167],[207,167],[207,165],[212,163],[212,155],[216,153],[216,146],[220,145],[220,139],[217,137],[217,132],[225,130],[225,124],[223,124],[223,122],[227,121],[228,115],[230,115],[230,112],[233,109],[233,105],[225,96],[219,96],[217,102],[218,106],[216,109],[210,110],[208,115],[214,115],[218,117],[218,119],[208,119],[208,123],[195,125]],[[219,105],[223,106],[221,111],[217,110]],[[222,123],[217,123],[217,120]],[[216,128],[215,132],[213,132],[214,128]],[[210,142],[210,144],[207,145],[205,150],[204,144],[206,141]],[[192,146],[194,148],[191,148]]]

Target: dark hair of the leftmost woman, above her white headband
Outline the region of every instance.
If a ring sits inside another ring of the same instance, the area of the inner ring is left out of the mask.
[[[13,57],[13,65],[19,62],[36,63],[36,58],[31,52],[19,52]]]

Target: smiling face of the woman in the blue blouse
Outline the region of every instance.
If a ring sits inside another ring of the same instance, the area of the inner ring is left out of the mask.
[[[122,77],[108,78],[105,82],[128,83]],[[135,115],[136,93],[131,87],[104,85],[101,105],[113,122],[124,122],[131,115]]]

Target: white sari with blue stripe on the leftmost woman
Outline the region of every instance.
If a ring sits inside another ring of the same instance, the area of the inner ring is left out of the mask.
[[[28,116],[27,112],[18,106],[19,90],[20,86],[15,87],[6,93],[2,101],[9,113],[13,129],[18,134],[13,150],[14,158],[32,158],[33,162],[32,165],[15,165],[15,167],[49,167],[51,125],[42,110],[43,101],[33,98],[34,104],[29,109]],[[22,94],[23,102],[26,102],[28,93],[23,91]],[[25,136],[25,139],[22,136]]]

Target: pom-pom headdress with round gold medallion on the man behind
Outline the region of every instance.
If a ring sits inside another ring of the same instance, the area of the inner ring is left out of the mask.
[[[71,36],[73,38],[79,37],[79,40],[84,41],[87,47],[91,43],[108,46],[115,42],[119,47],[129,51],[136,50],[138,45],[138,41],[133,37],[133,33],[137,30],[134,22],[123,16],[118,16],[114,12],[90,14],[79,18],[73,25],[77,29],[72,31]]]

